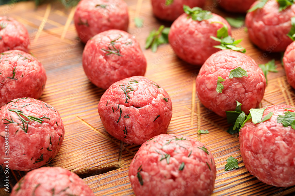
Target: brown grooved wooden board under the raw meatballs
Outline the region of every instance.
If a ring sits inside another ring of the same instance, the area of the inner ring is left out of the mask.
[[[168,133],[200,140],[209,147],[215,158],[217,178],[213,195],[294,195],[295,187],[266,185],[246,170],[237,136],[226,132],[229,126],[226,119],[206,109],[196,96],[195,78],[199,67],[181,61],[168,44],[160,46],[157,53],[144,50],[149,32],[161,24],[170,26],[171,23],[153,17],[150,1],[126,2],[130,14],[128,32],[136,36],[148,60],[145,76],[165,88],[173,102]],[[205,9],[222,16],[235,16],[219,10],[211,0],[207,1]],[[104,91],[91,84],[84,74],[81,64],[84,45],[77,39],[73,25],[74,8],[65,9],[57,2],[36,8],[33,2],[21,2],[1,6],[0,13],[14,17],[27,27],[32,41],[31,51],[42,62],[47,73],[41,100],[53,105],[65,124],[63,146],[47,166],[59,166],[75,172],[95,195],[134,195],[128,169],[139,146],[121,143],[110,136],[101,123],[97,104]],[[135,27],[133,19],[137,16],[144,19],[142,28]],[[295,91],[286,81],[280,55],[263,54],[250,43],[244,28],[233,29],[232,34],[236,39],[244,38],[241,44],[258,64],[276,59],[279,72],[268,75],[268,86],[261,106],[294,105]],[[209,134],[198,135],[199,129],[208,129]],[[238,159],[240,168],[224,172],[225,160],[229,156]],[[13,186],[24,174],[10,171],[10,185]],[[3,178],[3,171],[1,175],[0,179]],[[3,189],[0,195],[5,195]]]

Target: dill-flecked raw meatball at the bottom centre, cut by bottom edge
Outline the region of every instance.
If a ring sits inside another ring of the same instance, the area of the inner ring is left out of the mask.
[[[183,135],[158,135],[133,158],[129,179],[137,196],[207,196],[214,189],[216,166],[210,150]]]

